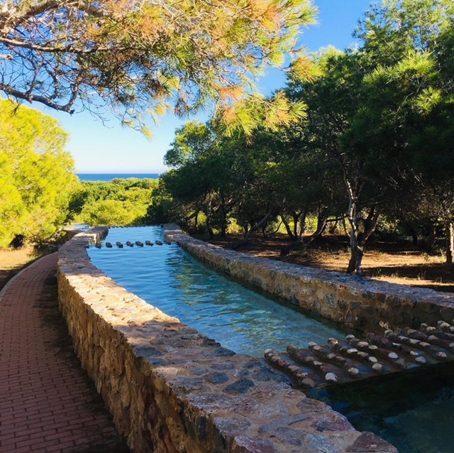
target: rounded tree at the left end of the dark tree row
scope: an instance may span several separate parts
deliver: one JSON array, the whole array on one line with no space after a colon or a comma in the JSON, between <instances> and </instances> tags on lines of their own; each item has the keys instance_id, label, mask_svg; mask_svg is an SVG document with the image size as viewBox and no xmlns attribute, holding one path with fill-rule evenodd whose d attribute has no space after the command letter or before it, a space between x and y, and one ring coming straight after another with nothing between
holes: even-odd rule
<instances>
[{"instance_id":1,"label":"rounded tree at the left end of the dark tree row","mask_svg":"<svg viewBox=\"0 0 454 453\"><path fill-rule=\"evenodd\" d=\"M165 155L165 163L175 170L162 179L182 212L189 208L184 216L187 227L194 219L197 228L203 212L210 236L214 234L213 222L225 236L228 214L242 187L238 143L237 138L223 136L209 123L189 122L177 130Z\"/></svg>"}]
</instances>

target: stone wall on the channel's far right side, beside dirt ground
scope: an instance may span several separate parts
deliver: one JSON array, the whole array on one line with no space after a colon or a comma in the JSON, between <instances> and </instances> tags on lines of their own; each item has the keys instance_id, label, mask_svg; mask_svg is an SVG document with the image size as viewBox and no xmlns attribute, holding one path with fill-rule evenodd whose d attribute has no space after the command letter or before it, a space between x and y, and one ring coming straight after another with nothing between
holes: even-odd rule
<instances>
[{"instance_id":1,"label":"stone wall on the channel's far right side, beside dirt ground","mask_svg":"<svg viewBox=\"0 0 454 453\"><path fill-rule=\"evenodd\" d=\"M381 333L419 328L421 322L436 325L438 320L454 320L453 293L258 258L193 239L174 224L166 225L165 234L218 271L362 332Z\"/></svg>"}]
</instances>

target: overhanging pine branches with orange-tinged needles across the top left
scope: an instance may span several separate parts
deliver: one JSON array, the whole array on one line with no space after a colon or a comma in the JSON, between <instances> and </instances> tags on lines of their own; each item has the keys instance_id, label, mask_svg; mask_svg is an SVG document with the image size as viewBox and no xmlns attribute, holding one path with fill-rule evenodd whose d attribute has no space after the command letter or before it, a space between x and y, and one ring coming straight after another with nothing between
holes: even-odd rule
<instances>
[{"instance_id":1,"label":"overhanging pine branches with orange-tinged needles across the top left","mask_svg":"<svg viewBox=\"0 0 454 453\"><path fill-rule=\"evenodd\" d=\"M255 77L294 55L314 12L308 0L7 0L0 89L67 112L79 99L138 126L144 112L183 115L212 102L247 128L238 102L263 104L251 96ZM304 76L305 59L293 70ZM270 124L288 117L281 96L270 106Z\"/></svg>"}]
</instances>

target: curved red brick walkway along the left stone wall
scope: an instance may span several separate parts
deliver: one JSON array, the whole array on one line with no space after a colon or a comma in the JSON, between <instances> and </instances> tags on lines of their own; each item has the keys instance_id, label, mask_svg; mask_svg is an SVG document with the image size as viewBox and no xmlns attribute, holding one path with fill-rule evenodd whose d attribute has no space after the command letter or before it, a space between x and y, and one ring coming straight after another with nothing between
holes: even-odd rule
<instances>
[{"instance_id":1,"label":"curved red brick walkway along the left stone wall","mask_svg":"<svg viewBox=\"0 0 454 453\"><path fill-rule=\"evenodd\" d=\"M57 253L0 293L0 453L125 453L58 312Z\"/></svg>"}]
</instances>

